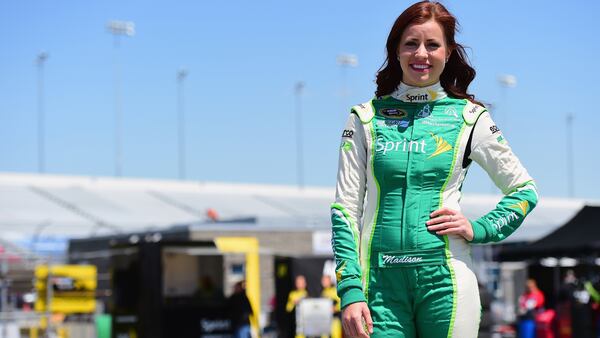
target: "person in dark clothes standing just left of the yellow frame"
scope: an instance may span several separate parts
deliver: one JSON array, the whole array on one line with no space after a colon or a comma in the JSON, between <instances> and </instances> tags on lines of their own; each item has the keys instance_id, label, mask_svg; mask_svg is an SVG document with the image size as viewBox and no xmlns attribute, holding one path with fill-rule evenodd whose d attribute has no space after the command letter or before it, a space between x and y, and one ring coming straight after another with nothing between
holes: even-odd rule
<instances>
[{"instance_id":1,"label":"person in dark clothes standing just left of the yellow frame","mask_svg":"<svg viewBox=\"0 0 600 338\"><path fill-rule=\"evenodd\" d=\"M231 327L235 338L250 338L250 316L253 314L252 305L246 295L246 281L235 283L233 294L227 300Z\"/></svg>"}]
</instances>

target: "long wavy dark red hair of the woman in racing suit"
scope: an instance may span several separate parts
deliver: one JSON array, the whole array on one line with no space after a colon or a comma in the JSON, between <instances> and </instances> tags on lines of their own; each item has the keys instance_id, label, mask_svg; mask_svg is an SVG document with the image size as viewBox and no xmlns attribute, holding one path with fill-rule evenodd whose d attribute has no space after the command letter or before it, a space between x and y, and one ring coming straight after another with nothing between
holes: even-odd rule
<instances>
[{"instance_id":1,"label":"long wavy dark red hair of the woman in racing suit","mask_svg":"<svg viewBox=\"0 0 600 338\"><path fill-rule=\"evenodd\" d=\"M431 19L442 26L446 44L451 51L444 71L440 75L440 84L451 97L468 99L481 104L475 100L475 95L467 93L469 84L475 78L475 69L469 64L464 47L454 40L458 26L456 18L442 4L431 1L417 2L408 7L394 22L386 43L387 57L377 71L375 96L391 94L402 81L402 67L398 61L398 45L406 27L412 24L422 24Z\"/></svg>"}]
</instances>

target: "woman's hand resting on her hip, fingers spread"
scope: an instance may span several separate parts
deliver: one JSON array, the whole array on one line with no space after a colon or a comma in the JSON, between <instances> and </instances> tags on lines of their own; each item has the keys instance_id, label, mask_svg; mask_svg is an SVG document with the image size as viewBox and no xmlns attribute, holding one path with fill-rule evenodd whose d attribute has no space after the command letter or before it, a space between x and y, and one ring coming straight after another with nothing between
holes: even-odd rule
<instances>
[{"instance_id":1,"label":"woman's hand resting on her hip, fingers spread","mask_svg":"<svg viewBox=\"0 0 600 338\"><path fill-rule=\"evenodd\" d=\"M473 226L460 211L442 208L432 212L427 221L427 230L438 235L459 235L467 241L473 240Z\"/></svg>"}]
</instances>

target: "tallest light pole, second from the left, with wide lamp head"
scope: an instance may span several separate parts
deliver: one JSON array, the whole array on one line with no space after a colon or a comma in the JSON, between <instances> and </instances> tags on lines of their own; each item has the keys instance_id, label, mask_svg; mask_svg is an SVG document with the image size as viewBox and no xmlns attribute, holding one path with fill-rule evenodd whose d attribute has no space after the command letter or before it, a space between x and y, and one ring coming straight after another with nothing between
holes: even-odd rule
<instances>
[{"instance_id":1,"label":"tallest light pole, second from the left, with wide lamp head","mask_svg":"<svg viewBox=\"0 0 600 338\"><path fill-rule=\"evenodd\" d=\"M106 29L113 35L113 46L114 46L114 87L115 87L115 176L121 176L122 173L122 146L121 146L121 123L123 118L123 112L121 107L121 93L120 93L120 68L117 57L117 51L119 49L119 37L120 36L134 36L135 35L135 24L130 21L118 21L111 20L106 24Z\"/></svg>"}]
</instances>

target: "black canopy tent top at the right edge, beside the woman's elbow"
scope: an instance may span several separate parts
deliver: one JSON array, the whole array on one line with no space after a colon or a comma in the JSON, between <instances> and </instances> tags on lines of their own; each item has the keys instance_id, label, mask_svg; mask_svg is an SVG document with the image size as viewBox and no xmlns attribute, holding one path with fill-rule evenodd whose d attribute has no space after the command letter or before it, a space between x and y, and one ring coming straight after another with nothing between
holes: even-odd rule
<instances>
[{"instance_id":1,"label":"black canopy tent top at the right edge, beside the woman's elbow","mask_svg":"<svg viewBox=\"0 0 600 338\"><path fill-rule=\"evenodd\" d=\"M600 206L584 206L569 222L536 242L504 247L498 260L526 261L544 257L600 256Z\"/></svg>"}]
</instances>

